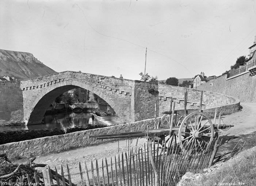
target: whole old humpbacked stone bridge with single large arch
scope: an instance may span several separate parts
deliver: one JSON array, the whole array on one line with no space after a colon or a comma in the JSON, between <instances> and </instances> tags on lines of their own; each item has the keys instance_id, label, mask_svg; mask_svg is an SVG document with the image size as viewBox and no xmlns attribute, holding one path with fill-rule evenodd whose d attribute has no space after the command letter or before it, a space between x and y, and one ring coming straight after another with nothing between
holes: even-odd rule
<instances>
[{"instance_id":1,"label":"whole old humpbacked stone bridge with single large arch","mask_svg":"<svg viewBox=\"0 0 256 186\"><path fill-rule=\"evenodd\" d=\"M126 80L81 72L60 72L20 82L23 97L23 121L39 124L51 102L74 88L84 88L103 98L123 123L154 118L169 110L171 97L177 109L183 109L185 88L138 80ZM188 90L188 109L199 106L200 91ZM237 104L237 100L223 94L205 92L205 109Z\"/></svg>"}]
</instances>

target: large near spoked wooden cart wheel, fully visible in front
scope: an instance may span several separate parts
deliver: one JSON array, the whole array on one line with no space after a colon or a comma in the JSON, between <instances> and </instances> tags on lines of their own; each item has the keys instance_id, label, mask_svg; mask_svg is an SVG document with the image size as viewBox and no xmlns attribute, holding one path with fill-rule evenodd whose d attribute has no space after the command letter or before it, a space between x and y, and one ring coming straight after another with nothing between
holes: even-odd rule
<instances>
[{"instance_id":1,"label":"large near spoked wooden cart wheel, fully visible in front","mask_svg":"<svg viewBox=\"0 0 256 186\"><path fill-rule=\"evenodd\" d=\"M185 147L196 149L208 148L214 137L214 127L210 118L202 112L193 112L184 118L179 129L179 143ZM190 145L188 145L190 143Z\"/></svg>"}]
</instances>

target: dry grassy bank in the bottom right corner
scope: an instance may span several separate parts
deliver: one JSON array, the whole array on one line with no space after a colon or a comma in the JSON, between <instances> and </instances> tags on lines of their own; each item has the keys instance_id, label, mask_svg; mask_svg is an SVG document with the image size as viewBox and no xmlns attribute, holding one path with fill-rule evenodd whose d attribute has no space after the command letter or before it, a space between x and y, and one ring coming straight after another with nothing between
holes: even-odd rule
<instances>
[{"instance_id":1,"label":"dry grassy bank in the bottom right corner","mask_svg":"<svg viewBox=\"0 0 256 186\"><path fill-rule=\"evenodd\" d=\"M194 181L191 186L211 185L256 185L256 152L246 154L241 159L228 161L216 173L203 175L202 181Z\"/></svg>"}]
</instances>

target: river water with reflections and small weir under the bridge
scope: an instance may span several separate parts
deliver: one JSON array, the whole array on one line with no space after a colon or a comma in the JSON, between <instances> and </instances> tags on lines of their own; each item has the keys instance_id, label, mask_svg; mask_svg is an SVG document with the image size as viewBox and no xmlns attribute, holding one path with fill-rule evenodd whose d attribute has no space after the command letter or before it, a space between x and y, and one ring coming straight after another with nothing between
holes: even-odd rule
<instances>
[{"instance_id":1,"label":"river water with reflections and small weir under the bridge","mask_svg":"<svg viewBox=\"0 0 256 186\"><path fill-rule=\"evenodd\" d=\"M108 126L121 124L118 116L95 116L95 124L106 124ZM8 130L36 130L36 129L66 129L74 126L87 126L92 124L91 113L59 113L45 115L45 124L22 125L22 126L0 126L0 131Z\"/></svg>"}]
</instances>

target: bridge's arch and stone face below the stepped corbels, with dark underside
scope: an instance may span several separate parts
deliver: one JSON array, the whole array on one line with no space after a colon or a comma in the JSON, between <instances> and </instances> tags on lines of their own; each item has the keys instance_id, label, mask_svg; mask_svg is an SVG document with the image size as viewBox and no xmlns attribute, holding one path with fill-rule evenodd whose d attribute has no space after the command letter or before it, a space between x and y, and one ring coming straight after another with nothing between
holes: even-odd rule
<instances>
[{"instance_id":1,"label":"bridge's arch and stone face below the stepped corbels, with dark underside","mask_svg":"<svg viewBox=\"0 0 256 186\"><path fill-rule=\"evenodd\" d=\"M107 91L106 88L104 87L102 90L101 87L95 86L93 84L88 84L85 81L65 80L65 81L60 81L56 84L49 85L47 86L47 88L40 88L41 89L40 91L35 91L36 95L28 94L30 97L30 101L28 100L25 101L23 105L25 124L31 125L31 124L41 123L43 116L46 112L46 109L56 99L56 97L74 88L87 89L90 92L97 94L114 109L115 113L120 117L120 120L122 122L130 122L129 114L131 112L129 111L131 108L131 101L130 101L131 96L129 94L123 95L126 97L126 99L123 99L122 97L120 97L120 95L118 95L119 97L118 98L115 96L115 94L119 94L118 92L113 93L109 89ZM125 100L127 100L127 102L125 102ZM124 103L126 105L125 110L127 110L128 112L124 112L124 109L120 109L120 106L123 105Z\"/></svg>"}]
</instances>

